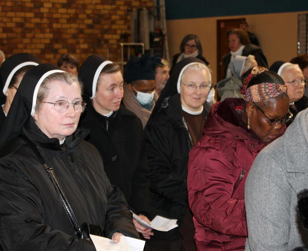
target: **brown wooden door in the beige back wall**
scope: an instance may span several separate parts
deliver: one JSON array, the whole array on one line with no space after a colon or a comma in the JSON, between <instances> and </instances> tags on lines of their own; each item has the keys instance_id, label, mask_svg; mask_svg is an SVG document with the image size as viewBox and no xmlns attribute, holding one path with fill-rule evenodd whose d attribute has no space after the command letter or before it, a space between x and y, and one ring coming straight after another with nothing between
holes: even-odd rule
<instances>
[{"instance_id":1,"label":"brown wooden door in the beige back wall","mask_svg":"<svg viewBox=\"0 0 308 251\"><path fill-rule=\"evenodd\" d=\"M246 21L246 18L217 20L217 82L224 76L222 57L230 52L227 31L239 28L242 21Z\"/></svg>"}]
</instances>

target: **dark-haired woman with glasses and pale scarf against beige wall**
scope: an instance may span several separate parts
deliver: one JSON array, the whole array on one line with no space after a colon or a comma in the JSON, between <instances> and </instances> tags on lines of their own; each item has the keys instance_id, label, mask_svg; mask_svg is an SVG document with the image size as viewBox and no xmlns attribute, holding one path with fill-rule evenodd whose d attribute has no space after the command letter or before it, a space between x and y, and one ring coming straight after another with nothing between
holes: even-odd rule
<instances>
[{"instance_id":1,"label":"dark-haired woman with glasses and pale scarf against beige wall","mask_svg":"<svg viewBox=\"0 0 308 251\"><path fill-rule=\"evenodd\" d=\"M209 65L209 62L202 56L202 46L198 36L195 34L188 34L183 38L180 44L180 53L173 56L172 69L175 64L180 62L182 59L192 57L201 59L206 65Z\"/></svg>"}]
</instances>

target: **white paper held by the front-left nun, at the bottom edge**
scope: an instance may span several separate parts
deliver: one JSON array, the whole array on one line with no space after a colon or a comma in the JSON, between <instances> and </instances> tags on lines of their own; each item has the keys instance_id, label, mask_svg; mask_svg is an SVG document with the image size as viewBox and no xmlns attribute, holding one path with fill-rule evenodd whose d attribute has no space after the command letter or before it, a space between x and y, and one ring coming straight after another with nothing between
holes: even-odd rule
<instances>
[{"instance_id":1,"label":"white paper held by the front-left nun, at the bottom edge","mask_svg":"<svg viewBox=\"0 0 308 251\"><path fill-rule=\"evenodd\" d=\"M112 240L90 234L91 240L96 251L143 251L145 241L134 239L127 236L121 236L119 243Z\"/></svg>"}]
</instances>

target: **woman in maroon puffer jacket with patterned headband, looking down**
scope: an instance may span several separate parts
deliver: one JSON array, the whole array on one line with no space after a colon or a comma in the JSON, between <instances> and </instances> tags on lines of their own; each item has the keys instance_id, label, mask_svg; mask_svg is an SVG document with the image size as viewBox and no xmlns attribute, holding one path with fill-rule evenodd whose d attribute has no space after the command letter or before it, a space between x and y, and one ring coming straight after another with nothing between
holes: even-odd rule
<instances>
[{"instance_id":1,"label":"woman in maroon puffer jacket with patterned headband, looking down","mask_svg":"<svg viewBox=\"0 0 308 251\"><path fill-rule=\"evenodd\" d=\"M257 154L281 136L292 114L286 84L254 67L245 98L213 105L188 163L188 200L197 250L244 250L247 237L244 186Z\"/></svg>"}]
</instances>

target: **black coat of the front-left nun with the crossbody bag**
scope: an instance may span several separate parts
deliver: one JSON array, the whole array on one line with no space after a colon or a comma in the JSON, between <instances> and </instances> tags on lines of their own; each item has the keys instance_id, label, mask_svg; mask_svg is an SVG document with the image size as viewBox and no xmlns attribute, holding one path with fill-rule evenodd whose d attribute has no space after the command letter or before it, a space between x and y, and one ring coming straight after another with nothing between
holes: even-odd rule
<instances>
[{"instance_id":1,"label":"black coat of the front-left nun with the crossbody bag","mask_svg":"<svg viewBox=\"0 0 308 251\"><path fill-rule=\"evenodd\" d=\"M83 141L87 130L65 140L49 139L30 118L23 129L54 168L79 225L100 224L106 237L115 232L138 234L123 194L111 186L97 150ZM3 250L95 251L91 241L77 239L58 193L34 152L22 138L12 140L0 159L0 243Z\"/></svg>"}]
</instances>

